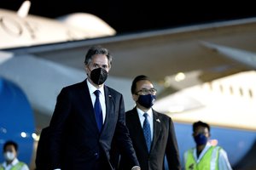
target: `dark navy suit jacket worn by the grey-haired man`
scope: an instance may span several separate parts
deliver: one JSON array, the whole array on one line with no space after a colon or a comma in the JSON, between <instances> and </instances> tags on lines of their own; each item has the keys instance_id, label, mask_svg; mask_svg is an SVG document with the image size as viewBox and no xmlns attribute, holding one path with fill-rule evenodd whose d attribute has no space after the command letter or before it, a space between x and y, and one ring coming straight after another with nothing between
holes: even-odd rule
<instances>
[{"instance_id":1,"label":"dark navy suit jacket worn by the grey-haired man","mask_svg":"<svg viewBox=\"0 0 256 170\"><path fill-rule=\"evenodd\" d=\"M113 169L109 150L115 138L139 165L127 127L122 94L104 86L106 119L98 132L86 81L62 88L49 127L50 157L54 167L63 169ZM100 165L100 167L96 167Z\"/></svg>"}]
</instances>

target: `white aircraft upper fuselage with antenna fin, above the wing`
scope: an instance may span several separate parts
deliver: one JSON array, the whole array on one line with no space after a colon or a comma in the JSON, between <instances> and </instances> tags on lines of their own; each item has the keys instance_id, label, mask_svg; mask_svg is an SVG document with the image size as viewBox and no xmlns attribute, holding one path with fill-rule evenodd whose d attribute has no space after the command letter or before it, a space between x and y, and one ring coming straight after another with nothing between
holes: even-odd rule
<instances>
[{"instance_id":1,"label":"white aircraft upper fuselage with antenna fin, above the wing","mask_svg":"<svg viewBox=\"0 0 256 170\"><path fill-rule=\"evenodd\" d=\"M58 20L27 14L30 2L19 11L0 9L0 49L113 36L116 31L93 14L67 14Z\"/></svg>"}]
</instances>

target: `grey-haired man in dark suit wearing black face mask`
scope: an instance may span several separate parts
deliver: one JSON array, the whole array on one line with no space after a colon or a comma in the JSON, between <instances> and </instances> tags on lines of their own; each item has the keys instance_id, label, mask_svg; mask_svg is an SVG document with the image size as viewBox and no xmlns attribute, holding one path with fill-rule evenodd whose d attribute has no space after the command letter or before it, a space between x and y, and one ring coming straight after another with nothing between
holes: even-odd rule
<instances>
[{"instance_id":1,"label":"grey-haired man in dark suit wearing black face mask","mask_svg":"<svg viewBox=\"0 0 256 170\"><path fill-rule=\"evenodd\" d=\"M61 89L49 123L50 158L54 169L108 170L113 138L139 170L125 126L122 94L104 85L112 56L107 48L92 47L85 56L87 79Z\"/></svg>"}]
</instances>

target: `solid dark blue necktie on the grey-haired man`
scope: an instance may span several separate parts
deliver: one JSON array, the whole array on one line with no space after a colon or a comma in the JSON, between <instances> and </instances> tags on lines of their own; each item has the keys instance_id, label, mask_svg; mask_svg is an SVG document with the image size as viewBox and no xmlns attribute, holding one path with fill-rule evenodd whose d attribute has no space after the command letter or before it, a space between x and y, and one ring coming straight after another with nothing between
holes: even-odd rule
<instances>
[{"instance_id":1,"label":"solid dark blue necktie on the grey-haired man","mask_svg":"<svg viewBox=\"0 0 256 170\"><path fill-rule=\"evenodd\" d=\"M95 116L96 116L96 122L97 122L97 127L99 129L99 131L102 130L102 122L103 122L103 117L102 117L102 106L100 103L100 91L96 90L94 92L94 94L96 95L96 100L95 100L95 104L94 104L94 111L95 111Z\"/></svg>"}]
</instances>

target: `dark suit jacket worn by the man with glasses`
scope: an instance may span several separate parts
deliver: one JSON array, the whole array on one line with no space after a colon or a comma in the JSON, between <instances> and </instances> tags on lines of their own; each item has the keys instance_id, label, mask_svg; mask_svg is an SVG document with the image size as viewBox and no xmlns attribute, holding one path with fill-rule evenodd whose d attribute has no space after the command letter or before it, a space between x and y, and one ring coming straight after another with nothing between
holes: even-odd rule
<instances>
[{"instance_id":1,"label":"dark suit jacket worn by the man with glasses","mask_svg":"<svg viewBox=\"0 0 256 170\"><path fill-rule=\"evenodd\" d=\"M169 169L181 169L177 139L174 132L173 122L169 116L153 110L154 136L151 150L148 154L146 141L143 135L137 109L127 111L126 126L129 128L131 140L136 150L137 159L142 170L161 170L164 168L164 156L168 161ZM122 150L120 151L122 153ZM119 169L128 169L128 161L125 154L121 154Z\"/></svg>"}]
</instances>

